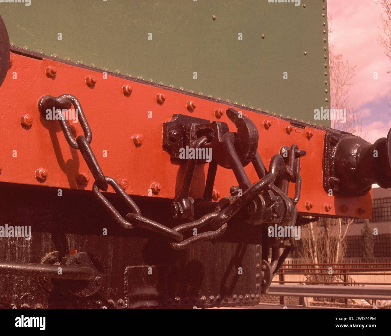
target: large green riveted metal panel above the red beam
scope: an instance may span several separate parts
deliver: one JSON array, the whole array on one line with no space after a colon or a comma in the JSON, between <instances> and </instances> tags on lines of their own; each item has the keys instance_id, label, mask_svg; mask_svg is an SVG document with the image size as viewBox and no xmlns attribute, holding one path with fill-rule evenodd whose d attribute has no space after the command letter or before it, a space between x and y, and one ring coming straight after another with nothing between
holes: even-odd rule
<instances>
[{"instance_id":1,"label":"large green riveted metal panel above the red beam","mask_svg":"<svg viewBox=\"0 0 391 336\"><path fill-rule=\"evenodd\" d=\"M330 101L323 6L324 0L31 0L2 3L0 14L14 45L330 126L314 120L314 109Z\"/></svg>"}]
</instances>

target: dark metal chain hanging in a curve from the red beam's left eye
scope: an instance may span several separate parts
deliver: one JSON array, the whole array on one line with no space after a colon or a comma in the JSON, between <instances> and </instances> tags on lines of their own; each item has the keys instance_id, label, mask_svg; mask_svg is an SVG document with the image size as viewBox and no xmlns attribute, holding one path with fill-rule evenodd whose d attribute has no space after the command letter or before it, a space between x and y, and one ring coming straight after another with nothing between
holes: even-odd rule
<instances>
[{"instance_id":1,"label":"dark metal chain hanging in a curve from the red beam's left eye","mask_svg":"<svg viewBox=\"0 0 391 336\"><path fill-rule=\"evenodd\" d=\"M198 220L178 225L172 229L163 224L154 222L153 220L143 217L140 208L136 205L132 198L127 195L126 191L120 186L120 184L118 184L118 182L115 181L115 179L113 179L112 177L105 176L102 172L102 169L100 168L99 163L90 146L90 143L92 141L92 132L90 126L88 125L79 100L77 100L74 95L70 94L61 95L60 97L43 96L39 100L39 107L41 111L46 111L47 108L59 106L69 106L69 109L71 107L69 103L74 105L74 107L78 110L78 117L81 123L81 127L83 128L84 136L80 135L75 139L72 135L72 132L70 131L70 128L65 118L59 118L59 123L61 129L63 130L65 139L72 148L80 150L84 161L86 161L87 166L95 179L95 182L93 183L92 187L93 194L99 200L100 204L104 206L106 211L108 211L108 213L115 220L115 222L118 223L122 228L133 229L136 226L140 226L144 229L158 232L163 236L166 236L173 240L174 242L170 241L170 245L172 248L177 250L186 248L196 243L197 241L217 238L225 232L229 218L227 218L225 223L215 231L203 232L185 240L183 239L183 235L181 232L185 232L206 225L213 218L215 218L218 213L206 214ZM117 209L115 209L115 207L100 192L100 190L107 191L109 185L131 209L131 212L125 216L126 219L121 216Z\"/></svg>"}]
</instances>

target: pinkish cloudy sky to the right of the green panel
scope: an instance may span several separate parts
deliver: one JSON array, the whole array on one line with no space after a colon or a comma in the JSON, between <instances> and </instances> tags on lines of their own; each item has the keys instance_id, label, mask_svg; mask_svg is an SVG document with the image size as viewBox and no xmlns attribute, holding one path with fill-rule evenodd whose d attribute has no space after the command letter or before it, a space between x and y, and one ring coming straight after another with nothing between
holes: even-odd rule
<instances>
[{"instance_id":1,"label":"pinkish cloudy sky to the right of the green panel","mask_svg":"<svg viewBox=\"0 0 391 336\"><path fill-rule=\"evenodd\" d=\"M376 0L327 0L327 9L333 18L330 43L335 53L356 66L348 107L358 109L363 118L362 137L373 143L387 136L391 127L391 73L387 73L391 62L377 42L382 7Z\"/></svg>"}]
</instances>

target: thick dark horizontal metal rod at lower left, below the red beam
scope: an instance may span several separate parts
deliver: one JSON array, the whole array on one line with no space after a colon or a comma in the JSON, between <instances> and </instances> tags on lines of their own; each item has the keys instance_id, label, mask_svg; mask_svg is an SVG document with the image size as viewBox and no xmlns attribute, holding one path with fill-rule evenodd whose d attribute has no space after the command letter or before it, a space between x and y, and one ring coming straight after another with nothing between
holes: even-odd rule
<instances>
[{"instance_id":1,"label":"thick dark horizontal metal rod at lower left, below the red beam","mask_svg":"<svg viewBox=\"0 0 391 336\"><path fill-rule=\"evenodd\" d=\"M59 268L61 268L61 274L59 274ZM15 261L0 261L0 274L86 281L94 277L94 271L89 267L17 263Z\"/></svg>"}]
</instances>

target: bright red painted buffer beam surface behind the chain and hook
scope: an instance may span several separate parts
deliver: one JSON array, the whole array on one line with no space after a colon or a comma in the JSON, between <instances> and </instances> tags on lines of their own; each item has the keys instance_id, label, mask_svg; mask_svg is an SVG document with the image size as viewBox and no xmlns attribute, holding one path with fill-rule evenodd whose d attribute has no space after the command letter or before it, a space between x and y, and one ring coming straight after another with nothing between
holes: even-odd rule
<instances>
[{"instance_id":1,"label":"bright red painted buffer beam surface behind the chain and hook","mask_svg":"<svg viewBox=\"0 0 391 336\"><path fill-rule=\"evenodd\" d=\"M158 182L161 184L158 197L162 198L174 198L178 195L185 169L184 165L173 164L169 154L162 149L163 122L169 121L175 113L190 114L213 121L217 120L214 112L216 108L225 111L231 107L201 96L190 97L185 92L157 88L112 75L103 79L99 72L50 59L38 60L14 53L11 53L11 58L12 67L0 88L0 181L4 182L91 189L93 177L79 151L68 145L58 121L46 120L40 115L37 102L43 95L75 95L90 124L93 133L91 148L104 174L117 181L126 179L129 182L126 192L131 195L148 196L151 184ZM47 77L48 66L56 66L55 77ZM14 72L17 79L12 78ZM85 82L85 78L91 75L97 78L97 83L92 88ZM123 93L124 84L131 84L133 87L129 97ZM166 99L160 105L156 102L156 95L161 93ZM186 107L188 100L196 104L191 113ZM240 111L239 106L236 109ZM152 118L148 118L149 111L152 111ZM270 158L279 153L284 145L290 147L295 143L300 149L307 151L307 155L301 159L302 187L297 205L299 212L371 217L371 193L364 197L329 197L324 191L322 160L325 131L312 127L301 129L292 125L292 132L287 134L285 127L289 122L286 120L248 110L243 110L243 113L258 127L258 151L265 166L269 165ZM24 114L31 114L34 117L34 122L29 128L21 125L20 118ZM264 120L272 122L267 130L263 125ZM226 122L231 131L236 131L226 114L220 121ZM74 125L78 129L77 134L82 134L80 125ZM306 136L307 130L313 133L310 139ZM133 141L135 134L143 134L144 141L140 147L136 147ZM13 157L13 150L17 151L17 157ZM107 158L103 157L104 150L107 150ZM37 181L35 176L35 170L41 167L49 172L44 182ZM208 164L198 165L191 196L202 196L207 169ZM251 164L246 167L246 172L252 182L257 181ZM90 182L85 188L76 182L81 173L86 173L90 177ZM236 184L231 170L220 166L217 168L214 189L218 189L222 197L229 195L230 187ZM109 191L113 192L113 189L109 187ZM290 184L289 196L293 197L293 191L294 184ZM306 201L313 204L310 211L305 208ZM325 204L332 205L330 211L325 211ZM343 206L347 206L349 210L343 213ZM366 209L364 215L359 215L360 207Z\"/></svg>"}]
</instances>

